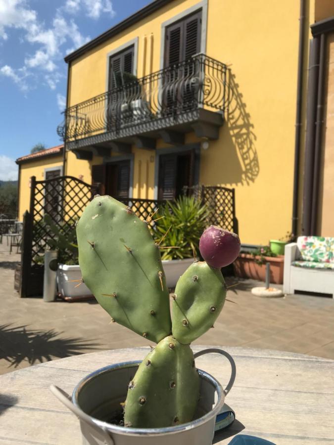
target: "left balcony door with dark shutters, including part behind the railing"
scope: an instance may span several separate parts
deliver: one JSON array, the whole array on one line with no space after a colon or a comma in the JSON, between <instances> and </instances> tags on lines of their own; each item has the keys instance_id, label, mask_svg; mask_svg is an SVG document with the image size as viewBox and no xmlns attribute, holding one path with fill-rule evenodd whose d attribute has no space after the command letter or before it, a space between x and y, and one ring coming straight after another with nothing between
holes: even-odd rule
<instances>
[{"instance_id":1,"label":"left balcony door with dark shutters, including part behind the railing","mask_svg":"<svg viewBox=\"0 0 334 445\"><path fill-rule=\"evenodd\" d=\"M120 125L122 105L126 102L126 85L133 82L134 46L109 58L107 130L117 130ZM131 75L131 77L129 76ZM124 108L124 107L123 107ZM122 116L123 117L123 116ZM124 116L126 117L126 116Z\"/></svg>"}]
</instances>

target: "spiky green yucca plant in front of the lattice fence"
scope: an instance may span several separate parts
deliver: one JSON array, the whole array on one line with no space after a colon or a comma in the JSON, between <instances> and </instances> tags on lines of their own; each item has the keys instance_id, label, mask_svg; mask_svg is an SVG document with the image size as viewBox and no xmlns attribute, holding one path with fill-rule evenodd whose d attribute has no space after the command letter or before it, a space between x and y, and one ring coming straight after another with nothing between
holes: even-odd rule
<instances>
[{"instance_id":1,"label":"spiky green yucca plant in front of the lattice fence","mask_svg":"<svg viewBox=\"0 0 334 445\"><path fill-rule=\"evenodd\" d=\"M162 248L161 259L182 260L194 254L198 256L198 240L207 217L207 209L192 196L181 196L160 207L154 216L152 235Z\"/></svg>"}]
</instances>

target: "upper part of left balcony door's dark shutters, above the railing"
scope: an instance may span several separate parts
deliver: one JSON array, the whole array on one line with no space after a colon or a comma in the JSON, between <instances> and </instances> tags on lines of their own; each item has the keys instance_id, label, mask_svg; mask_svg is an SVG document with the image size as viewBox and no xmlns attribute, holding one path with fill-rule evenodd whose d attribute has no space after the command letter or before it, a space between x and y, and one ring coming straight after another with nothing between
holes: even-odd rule
<instances>
[{"instance_id":1,"label":"upper part of left balcony door's dark shutters, above the railing","mask_svg":"<svg viewBox=\"0 0 334 445\"><path fill-rule=\"evenodd\" d=\"M134 73L134 52L135 47L131 45L109 58L109 90L129 82L127 74Z\"/></svg>"}]
</instances>

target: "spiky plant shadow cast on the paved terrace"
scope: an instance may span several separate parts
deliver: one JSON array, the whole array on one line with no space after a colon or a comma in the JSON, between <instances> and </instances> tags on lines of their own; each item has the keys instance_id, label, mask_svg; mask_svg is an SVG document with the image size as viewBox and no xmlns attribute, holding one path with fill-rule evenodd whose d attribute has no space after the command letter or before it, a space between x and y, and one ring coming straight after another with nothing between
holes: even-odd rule
<instances>
[{"instance_id":1,"label":"spiky plant shadow cast on the paved terrace","mask_svg":"<svg viewBox=\"0 0 334 445\"><path fill-rule=\"evenodd\" d=\"M87 350L100 349L98 344L82 338L60 337L63 332L54 329L46 331L31 329L26 325L0 325L0 359L9 363L9 367L17 368L27 360L30 365L84 354Z\"/></svg>"}]
</instances>

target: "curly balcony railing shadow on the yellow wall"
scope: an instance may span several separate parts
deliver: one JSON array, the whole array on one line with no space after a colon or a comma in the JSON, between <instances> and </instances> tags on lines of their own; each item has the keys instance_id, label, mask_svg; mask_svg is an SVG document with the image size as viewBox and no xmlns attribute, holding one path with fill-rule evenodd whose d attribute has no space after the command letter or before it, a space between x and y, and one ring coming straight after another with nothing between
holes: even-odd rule
<instances>
[{"instance_id":1,"label":"curly balcony railing shadow on the yellow wall","mask_svg":"<svg viewBox=\"0 0 334 445\"><path fill-rule=\"evenodd\" d=\"M232 72L229 75L229 88L232 94L228 105L227 124L241 161L241 182L248 185L255 181L260 170L255 147L256 134L246 104L242 100L236 76Z\"/></svg>"}]
</instances>

